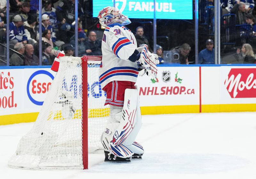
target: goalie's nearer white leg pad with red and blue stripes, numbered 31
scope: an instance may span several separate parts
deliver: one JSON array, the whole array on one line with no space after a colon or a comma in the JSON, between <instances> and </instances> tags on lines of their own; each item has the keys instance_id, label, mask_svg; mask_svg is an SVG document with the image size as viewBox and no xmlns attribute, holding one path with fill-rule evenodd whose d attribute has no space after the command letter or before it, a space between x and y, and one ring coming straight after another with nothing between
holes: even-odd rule
<instances>
[{"instance_id":1,"label":"goalie's nearer white leg pad with red and blue stripes, numbered 31","mask_svg":"<svg viewBox=\"0 0 256 179\"><path fill-rule=\"evenodd\" d=\"M123 143L132 133L137 121L137 94L137 89L125 89L124 107L121 112L120 123L117 123L118 120L113 119L120 116L118 110L116 113L112 112L110 116L112 119L109 121L111 123L107 125L102 136L102 144L103 146L105 145L105 150L121 158L127 158L133 155L133 152ZM138 132L136 132L136 136L137 133Z\"/></svg>"}]
</instances>

